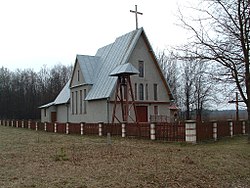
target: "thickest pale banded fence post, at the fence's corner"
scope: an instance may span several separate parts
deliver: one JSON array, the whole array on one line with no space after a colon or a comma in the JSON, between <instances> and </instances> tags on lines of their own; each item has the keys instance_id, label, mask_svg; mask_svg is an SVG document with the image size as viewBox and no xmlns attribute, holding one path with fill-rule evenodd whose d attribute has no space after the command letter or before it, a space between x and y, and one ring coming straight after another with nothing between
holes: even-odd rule
<instances>
[{"instance_id":1,"label":"thickest pale banded fence post, at the fence's corner","mask_svg":"<svg viewBox=\"0 0 250 188\"><path fill-rule=\"evenodd\" d=\"M187 120L185 122L185 141L195 144L197 141L196 121Z\"/></svg>"}]
</instances>

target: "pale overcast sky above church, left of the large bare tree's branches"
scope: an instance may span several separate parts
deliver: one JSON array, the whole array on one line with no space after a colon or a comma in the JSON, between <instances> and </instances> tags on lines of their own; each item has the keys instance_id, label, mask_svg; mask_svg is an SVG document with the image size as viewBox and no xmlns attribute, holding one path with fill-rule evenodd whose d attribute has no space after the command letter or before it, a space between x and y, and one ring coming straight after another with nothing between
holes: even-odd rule
<instances>
[{"instance_id":1,"label":"pale overcast sky above church, left of the large bare tree's branches","mask_svg":"<svg viewBox=\"0 0 250 188\"><path fill-rule=\"evenodd\" d=\"M0 67L10 70L62 63L76 54L94 55L98 48L139 27L154 50L186 40L176 25L180 0L0 0ZM187 1L182 1L187 2Z\"/></svg>"}]
</instances>

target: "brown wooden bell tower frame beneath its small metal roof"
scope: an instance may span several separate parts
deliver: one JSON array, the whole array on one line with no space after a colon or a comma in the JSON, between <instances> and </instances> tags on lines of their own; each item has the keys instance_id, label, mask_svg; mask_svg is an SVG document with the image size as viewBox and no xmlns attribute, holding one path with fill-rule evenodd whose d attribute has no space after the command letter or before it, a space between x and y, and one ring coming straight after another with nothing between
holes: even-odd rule
<instances>
[{"instance_id":1,"label":"brown wooden bell tower frame beneath its small metal roof","mask_svg":"<svg viewBox=\"0 0 250 188\"><path fill-rule=\"evenodd\" d=\"M115 90L115 103L113 107L112 123L117 120L119 123L128 122L129 118L138 123L137 111L135 106L135 100L133 95L133 89L131 85L129 73L121 73L118 76L116 90ZM117 107L120 104L121 107L121 119L117 114ZM132 117L132 110L134 111L135 119Z\"/></svg>"}]
</instances>

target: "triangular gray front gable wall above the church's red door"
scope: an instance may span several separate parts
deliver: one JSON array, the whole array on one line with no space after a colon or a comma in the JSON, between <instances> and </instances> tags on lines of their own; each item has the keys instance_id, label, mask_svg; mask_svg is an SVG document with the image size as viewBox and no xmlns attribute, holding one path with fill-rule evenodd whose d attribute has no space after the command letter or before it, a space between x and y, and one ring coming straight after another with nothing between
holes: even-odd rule
<instances>
[{"instance_id":1,"label":"triangular gray front gable wall above the church's red door","mask_svg":"<svg viewBox=\"0 0 250 188\"><path fill-rule=\"evenodd\" d=\"M169 102L173 99L167 81L144 32L138 39L129 62L140 72L139 75L132 77L132 81L134 87L138 87L135 88L137 91L139 87L143 87L144 100Z\"/></svg>"}]
</instances>

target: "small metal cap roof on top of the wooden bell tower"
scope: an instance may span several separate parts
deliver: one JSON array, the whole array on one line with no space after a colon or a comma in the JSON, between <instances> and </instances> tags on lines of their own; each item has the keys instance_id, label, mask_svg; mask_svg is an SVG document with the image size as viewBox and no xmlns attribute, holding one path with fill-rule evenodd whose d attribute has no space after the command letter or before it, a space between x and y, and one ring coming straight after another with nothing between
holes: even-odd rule
<instances>
[{"instance_id":1,"label":"small metal cap roof on top of the wooden bell tower","mask_svg":"<svg viewBox=\"0 0 250 188\"><path fill-rule=\"evenodd\" d=\"M109 75L118 76L121 74L134 75L139 74L139 71L131 63L126 63L124 65L119 65L118 67L116 67Z\"/></svg>"}]
</instances>

